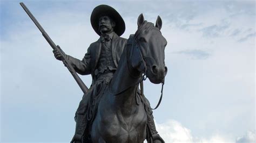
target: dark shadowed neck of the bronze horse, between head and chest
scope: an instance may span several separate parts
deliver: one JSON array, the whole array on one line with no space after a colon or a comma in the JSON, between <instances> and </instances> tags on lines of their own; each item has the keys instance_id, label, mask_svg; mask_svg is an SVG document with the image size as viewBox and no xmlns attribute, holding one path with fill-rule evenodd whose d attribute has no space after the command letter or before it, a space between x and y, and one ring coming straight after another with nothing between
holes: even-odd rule
<instances>
[{"instance_id":1,"label":"dark shadowed neck of the bronze horse, between head and chest","mask_svg":"<svg viewBox=\"0 0 256 143\"><path fill-rule=\"evenodd\" d=\"M110 91L111 94L114 94L114 102L120 104L118 106L127 108L131 108L131 104L136 104L134 94L138 88L138 83L141 80L140 76L134 77L134 75L132 75L132 73L136 72L136 69L129 68L131 65L127 60L129 60L130 57L130 48L131 47L126 44L118 63L118 68L110 83Z\"/></svg>"}]
</instances>

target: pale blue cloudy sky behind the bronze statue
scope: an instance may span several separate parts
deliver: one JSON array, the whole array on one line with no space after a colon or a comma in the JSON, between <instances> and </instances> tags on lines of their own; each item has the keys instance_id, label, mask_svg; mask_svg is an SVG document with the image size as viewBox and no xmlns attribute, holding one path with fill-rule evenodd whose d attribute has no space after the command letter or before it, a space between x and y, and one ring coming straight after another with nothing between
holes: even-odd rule
<instances>
[{"instance_id":1,"label":"pale blue cloudy sky behind the bronze statue","mask_svg":"<svg viewBox=\"0 0 256 143\"><path fill-rule=\"evenodd\" d=\"M19 5L0 0L0 142L69 142L83 92ZM255 142L255 1L22 1L55 44L82 59L99 37L97 5L123 17L129 38L137 18L155 23L168 44L163 100L153 111L171 142ZM80 76L86 85L91 76ZM160 84L147 80L151 106Z\"/></svg>"}]
</instances>

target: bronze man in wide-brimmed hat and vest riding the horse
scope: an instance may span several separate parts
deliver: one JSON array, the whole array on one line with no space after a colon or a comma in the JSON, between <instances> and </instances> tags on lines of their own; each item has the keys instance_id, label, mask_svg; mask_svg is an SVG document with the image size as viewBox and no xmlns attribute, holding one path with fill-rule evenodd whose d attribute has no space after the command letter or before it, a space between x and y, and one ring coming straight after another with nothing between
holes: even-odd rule
<instances>
[{"instance_id":1,"label":"bronze man in wide-brimmed hat and vest riding the horse","mask_svg":"<svg viewBox=\"0 0 256 143\"><path fill-rule=\"evenodd\" d=\"M91 14L91 25L100 38L93 42L87 49L82 60L66 56L77 73L81 75L91 74L92 84L89 91L83 96L76 111L76 131L71 142L90 142L90 126L102 91L111 80L117 69L120 56L127 39L119 37L125 31L125 23L119 13L108 5L99 5ZM62 59L62 54L53 51L57 60ZM146 100L147 101L147 100ZM146 103L149 104L149 103ZM152 111L146 108L150 115L147 120L147 139L153 142L164 142L157 134L154 125ZM152 142L152 141L151 141Z\"/></svg>"}]
</instances>

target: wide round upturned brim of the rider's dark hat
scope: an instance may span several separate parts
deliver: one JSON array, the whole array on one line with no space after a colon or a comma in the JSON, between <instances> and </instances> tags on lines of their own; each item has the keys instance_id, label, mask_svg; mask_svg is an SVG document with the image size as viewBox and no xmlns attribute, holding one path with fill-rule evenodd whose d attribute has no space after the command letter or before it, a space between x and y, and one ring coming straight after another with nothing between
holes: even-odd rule
<instances>
[{"instance_id":1,"label":"wide round upturned brim of the rider's dark hat","mask_svg":"<svg viewBox=\"0 0 256 143\"><path fill-rule=\"evenodd\" d=\"M109 5L98 5L95 9L93 9L91 14L91 25L93 30L100 35L99 32L99 18L102 16L109 16L116 22L116 26L114 27L114 32L117 33L118 36L122 35L125 31L125 23L123 18L119 15L119 13L113 9Z\"/></svg>"}]
</instances>

